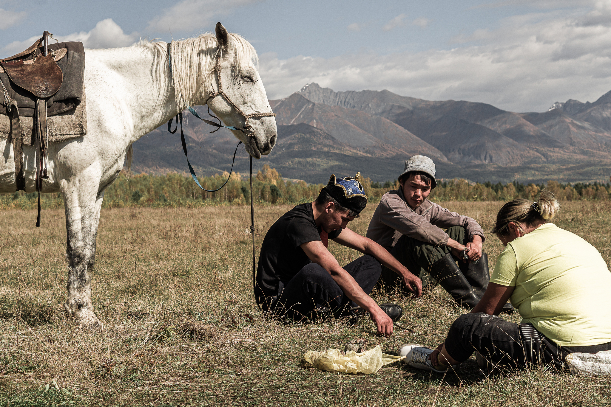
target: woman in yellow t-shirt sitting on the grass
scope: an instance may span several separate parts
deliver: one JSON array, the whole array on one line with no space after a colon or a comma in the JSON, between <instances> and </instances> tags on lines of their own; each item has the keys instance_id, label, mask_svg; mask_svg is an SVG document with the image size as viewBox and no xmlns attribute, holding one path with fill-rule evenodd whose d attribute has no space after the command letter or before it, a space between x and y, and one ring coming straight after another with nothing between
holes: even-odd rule
<instances>
[{"instance_id":1,"label":"woman in yellow t-shirt sitting on the grass","mask_svg":"<svg viewBox=\"0 0 611 407\"><path fill-rule=\"evenodd\" d=\"M477 351L480 364L485 358L562 369L569 353L611 350L611 273L590 243L547 223L558 209L548 190L536 202L503 205L492 232L505 250L488 289L470 314L456 319L436 350L404 345L400 353L410 366L444 372ZM508 299L521 323L498 317Z\"/></svg>"}]
</instances>

